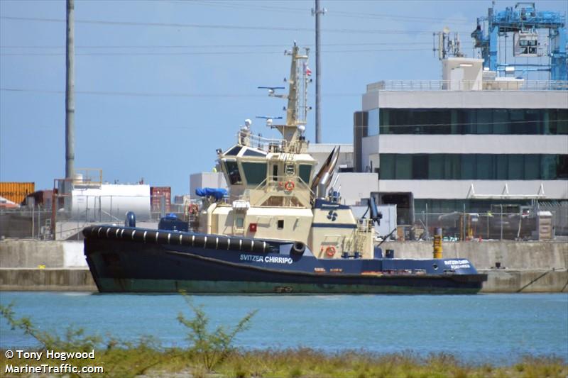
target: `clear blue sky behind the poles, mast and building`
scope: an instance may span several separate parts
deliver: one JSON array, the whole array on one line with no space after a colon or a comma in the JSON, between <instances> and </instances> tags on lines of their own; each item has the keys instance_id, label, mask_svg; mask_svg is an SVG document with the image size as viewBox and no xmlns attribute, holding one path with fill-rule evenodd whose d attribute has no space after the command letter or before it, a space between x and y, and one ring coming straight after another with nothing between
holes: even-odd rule
<instances>
[{"instance_id":1,"label":"clear blue sky behind the poles, mast and building","mask_svg":"<svg viewBox=\"0 0 568 378\"><path fill-rule=\"evenodd\" d=\"M469 34L491 1L321 0L322 141L352 143L366 84L441 79L432 33ZM537 1L568 12L567 1ZM515 1L496 1L496 9ZM106 182L189 193L246 118L285 116L283 86L294 41L309 47L315 78L313 0L75 0L75 167ZM65 0L0 0L0 181L50 189L65 177ZM530 79L530 77L529 77ZM315 84L309 103L315 106ZM315 141L315 112L307 138Z\"/></svg>"}]
</instances>

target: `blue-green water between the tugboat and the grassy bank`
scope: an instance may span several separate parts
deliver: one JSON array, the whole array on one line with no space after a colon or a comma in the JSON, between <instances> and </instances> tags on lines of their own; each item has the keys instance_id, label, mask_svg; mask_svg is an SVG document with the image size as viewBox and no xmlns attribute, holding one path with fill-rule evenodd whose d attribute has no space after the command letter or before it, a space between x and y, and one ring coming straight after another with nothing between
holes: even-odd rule
<instances>
[{"instance_id":1,"label":"blue-green water between the tugboat and the grassy bank","mask_svg":"<svg viewBox=\"0 0 568 378\"><path fill-rule=\"evenodd\" d=\"M556 355L568 361L567 294L469 296L193 296L213 326L233 326L253 309L251 328L236 345L335 352L364 349L420 355L450 352L467 362L510 364L523 355ZM153 335L163 345L184 346L175 317L190 308L179 295L0 292L17 317L38 327L137 340ZM33 339L0 320L0 348L26 347Z\"/></svg>"}]
</instances>

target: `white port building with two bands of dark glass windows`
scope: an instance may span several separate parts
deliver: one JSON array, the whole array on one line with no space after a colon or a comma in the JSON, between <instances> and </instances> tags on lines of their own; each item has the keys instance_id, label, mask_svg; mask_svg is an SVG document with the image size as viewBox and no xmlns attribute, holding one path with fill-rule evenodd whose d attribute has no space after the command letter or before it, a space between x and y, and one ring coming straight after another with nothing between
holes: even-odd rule
<instances>
[{"instance_id":1,"label":"white port building with two bands of dark glass windows","mask_svg":"<svg viewBox=\"0 0 568 378\"><path fill-rule=\"evenodd\" d=\"M398 217L568 199L568 82L497 77L449 57L442 80L368 84L354 170L376 173Z\"/></svg>"}]
</instances>

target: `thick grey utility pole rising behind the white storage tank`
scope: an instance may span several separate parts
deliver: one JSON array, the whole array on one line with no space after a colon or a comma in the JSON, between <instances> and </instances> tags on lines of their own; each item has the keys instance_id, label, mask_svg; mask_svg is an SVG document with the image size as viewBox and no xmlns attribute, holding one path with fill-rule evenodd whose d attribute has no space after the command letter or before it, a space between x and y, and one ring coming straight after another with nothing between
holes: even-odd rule
<instances>
[{"instance_id":1,"label":"thick grey utility pole rising behind the white storage tank","mask_svg":"<svg viewBox=\"0 0 568 378\"><path fill-rule=\"evenodd\" d=\"M65 178L75 174L75 0L67 0L67 48L65 50ZM67 187L69 185L69 187ZM65 192L71 190L65 184Z\"/></svg>"}]
</instances>

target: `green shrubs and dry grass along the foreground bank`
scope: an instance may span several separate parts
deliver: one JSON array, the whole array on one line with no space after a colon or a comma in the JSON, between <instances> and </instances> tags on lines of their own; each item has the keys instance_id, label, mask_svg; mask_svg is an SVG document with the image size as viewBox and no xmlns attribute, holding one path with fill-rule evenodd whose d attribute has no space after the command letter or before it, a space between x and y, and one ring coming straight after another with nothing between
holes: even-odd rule
<instances>
[{"instance_id":1,"label":"green shrubs and dry grass along the foreground bank","mask_svg":"<svg viewBox=\"0 0 568 378\"><path fill-rule=\"evenodd\" d=\"M469 365L453 355L437 354L420 357L413 352L379 355L364 350L337 353L307 348L288 350L239 350L234 338L249 327L256 311L247 314L234 328L219 326L210 330L209 318L201 306L184 296L193 312L192 318L182 313L178 321L187 327L189 348L162 348L155 339L143 337L137 343L114 338L85 335L82 329L67 328L60 336L36 328L29 318L16 318L13 306L0 305L0 316L12 328L23 330L43 345L40 350L96 350L94 360L71 359L70 365L102 366L103 374L62 374L70 377L393 377L393 378L545 378L568 377L568 364L558 357L524 357L511 366ZM8 359L0 354L0 377L6 365L56 365L53 360ZM14 377L26 377L15 374ZM28 377L35 377L28 374ZM54 374L53 376L57 376Z\"/></svg>"}]
</instances>

